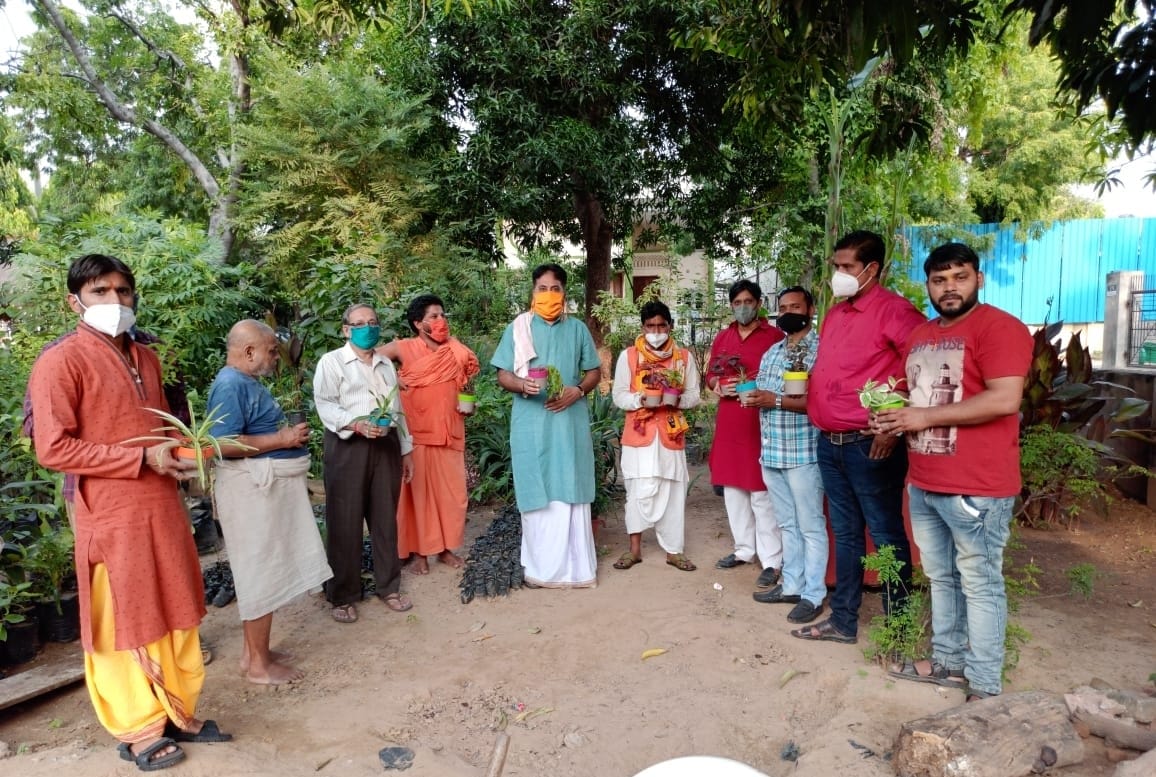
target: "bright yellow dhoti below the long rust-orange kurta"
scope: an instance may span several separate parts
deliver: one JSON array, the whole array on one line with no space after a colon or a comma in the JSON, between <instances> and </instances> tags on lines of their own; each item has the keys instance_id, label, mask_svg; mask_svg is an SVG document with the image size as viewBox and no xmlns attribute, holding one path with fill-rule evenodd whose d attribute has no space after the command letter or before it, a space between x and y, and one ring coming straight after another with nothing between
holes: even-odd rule
<instances>
[{"instance_id":1,"label":"bright yellow dhoti below the long rust-orange kurta","mask_svg":"<svg viewBox=\"0 0 1156 777\"><path fill-rule=\"evenodd\" d=\"M84 681L92 708L110 734L123 742L144 742L164 734L172 720L192 726L205 682L197 629L170 631L133 650L116 650L116 620L109 571L92 567L92 652L84 653Z\"/></svg>"}]
</instances>

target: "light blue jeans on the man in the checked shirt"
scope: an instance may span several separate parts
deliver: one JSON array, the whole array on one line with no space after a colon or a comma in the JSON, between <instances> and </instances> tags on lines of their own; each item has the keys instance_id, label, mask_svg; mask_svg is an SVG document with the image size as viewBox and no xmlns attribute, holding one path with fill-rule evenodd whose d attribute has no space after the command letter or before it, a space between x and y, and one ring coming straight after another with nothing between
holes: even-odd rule
<instances>
[{"instance_id":1,"label":"light blue jeans on the man in the checked shirt","mask_svg":"<svg viewBox=\"0 0 1156 777\"><path fill-rule=\"evenodd\" d=\"M827 597L827 518L817 464L763 467L775 519L783 530L783 593L816 607Z\"/></svg>"}]
</instances>

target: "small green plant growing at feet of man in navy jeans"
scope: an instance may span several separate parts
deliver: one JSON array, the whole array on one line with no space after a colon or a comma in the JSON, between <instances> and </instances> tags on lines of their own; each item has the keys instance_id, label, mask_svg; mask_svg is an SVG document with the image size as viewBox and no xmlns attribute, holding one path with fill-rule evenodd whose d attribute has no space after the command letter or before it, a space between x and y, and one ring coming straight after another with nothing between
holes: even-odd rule
<instances>
[{"instance_id":1,"label":"small green plant growing at feet of man in navy jeans","mask_svg":"<svg viewBox=\"0 0 1156 777\"><path fill-rule=\"evenodd\" d=\"M890 590L904 590L904 562L895 557L895 546L884 545L862 560L864 569L879 575L879 580ZM864 656L881 663L914 660L927 652L931 602L926 591L906 591L902 607L887 615L876 615L867 629Z\"/></svg>"}]
</instances>

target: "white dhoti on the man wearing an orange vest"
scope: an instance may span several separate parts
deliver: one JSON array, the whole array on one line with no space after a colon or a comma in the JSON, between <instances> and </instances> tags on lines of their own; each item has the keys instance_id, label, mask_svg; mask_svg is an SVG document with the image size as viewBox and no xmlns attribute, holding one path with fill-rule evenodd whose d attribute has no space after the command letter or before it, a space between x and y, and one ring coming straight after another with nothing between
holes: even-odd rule
<instances>
[{"instance_id":1,"label":"white dhoti on the man wearing an orange vest","mask_svg":"<svg viewBox=\"0 0 1156 777\"><path fill-rule=\"evenodd\" d=\"M659 441L645 447L623 446L622 478L627 486L627 533L654 527L658 543L669 554L682 553L687 508L687 456Z\"/></svg>"}]
</instances>

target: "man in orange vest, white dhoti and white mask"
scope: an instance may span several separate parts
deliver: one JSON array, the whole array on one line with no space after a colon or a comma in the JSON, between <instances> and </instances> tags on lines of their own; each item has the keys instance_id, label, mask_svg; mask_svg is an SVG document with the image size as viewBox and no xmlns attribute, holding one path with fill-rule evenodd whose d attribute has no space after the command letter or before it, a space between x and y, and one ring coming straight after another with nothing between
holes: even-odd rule
<instances>
[{"instance_id":1,"label":"man in orange vest, white dhoti and white mask","mask_svg":"<svg viewBox=\"0 0 1156 777\"><path fill-rule=\"evenodd\" d=\"M627 412L622 428L622 476L627 484L630 550L614 562L630 569L643 560L643 531L654 528L666 563L684 572L695 564L683 554L687 504L687 421L682 410L698 405L695 357L670 336L674 319L661 302L642 308L643 333L618 355L614 404ZM655 399L647 401L646 394ZM662 397L662 399L659 399ZM660 402L657 406L654 402Z\"/></svg>"}]
</instances>

